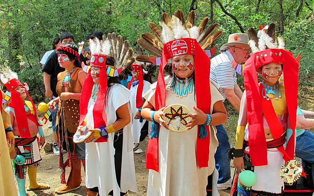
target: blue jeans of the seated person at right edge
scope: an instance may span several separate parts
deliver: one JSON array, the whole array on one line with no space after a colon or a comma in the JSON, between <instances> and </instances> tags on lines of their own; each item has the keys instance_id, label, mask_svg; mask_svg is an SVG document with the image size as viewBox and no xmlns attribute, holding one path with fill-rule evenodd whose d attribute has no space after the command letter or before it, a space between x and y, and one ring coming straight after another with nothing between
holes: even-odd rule
<instances>
[{"instance_id":1,"label":"blue jeans of the seated person at right edge","mask_svg":"<svg viewBox=\"0 0 314 196\"><path fill-rule=\"evenodd\" d=\"M296 137L295 155L302 159L302 165L311 165L314 181L314 134L308 130Z\"/></svg>"}]
</instances>

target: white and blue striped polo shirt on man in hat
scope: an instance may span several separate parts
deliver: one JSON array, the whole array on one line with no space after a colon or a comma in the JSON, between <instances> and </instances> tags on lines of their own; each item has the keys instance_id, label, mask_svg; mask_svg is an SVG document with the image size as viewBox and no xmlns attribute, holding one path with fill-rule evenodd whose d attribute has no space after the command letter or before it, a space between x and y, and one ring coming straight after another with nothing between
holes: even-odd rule
<instances>
[{"instance_id":1,"label":"white and blue striped polo shirt on man in hat","mask_svg":"<svg viewBox=\"0 0 314 196\"><path fill-rule=\"evenodd\" d=\"M236 70L231 61L232 55L229 51L222 52L210 60L210 80L219 84L219 91L225 97L224 88L233 89L237 84Z\"/></svg>"}]
</instances>

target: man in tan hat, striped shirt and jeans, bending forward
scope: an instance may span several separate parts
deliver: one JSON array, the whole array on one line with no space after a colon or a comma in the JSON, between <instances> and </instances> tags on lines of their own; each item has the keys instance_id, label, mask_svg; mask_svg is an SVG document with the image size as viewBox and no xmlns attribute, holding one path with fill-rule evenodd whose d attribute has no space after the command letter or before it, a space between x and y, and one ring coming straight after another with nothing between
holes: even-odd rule
<instances>
[{"instance_id":1,"label":"man in tan hat, striped shirt and jeans, bending forward","mask_svg":"<svg viewBox=\"0 0 314 196\"><path fill-rule=\"evenodd\" d=\"M220 48L221 54L210 61L210 80L219 84L219 91L225 99L239 111L242 91L237 85L236 70L232 60L236 63L245 62L250 56L249 37L245 33L230 34L228 43ZM226 151L230 149L229 138L222 124L216 126L219 146L215 153L216 168L219 172L217 188L224 190L230 188L232 178L230 163L227 161Z\"/></svg>"}]
</instances>

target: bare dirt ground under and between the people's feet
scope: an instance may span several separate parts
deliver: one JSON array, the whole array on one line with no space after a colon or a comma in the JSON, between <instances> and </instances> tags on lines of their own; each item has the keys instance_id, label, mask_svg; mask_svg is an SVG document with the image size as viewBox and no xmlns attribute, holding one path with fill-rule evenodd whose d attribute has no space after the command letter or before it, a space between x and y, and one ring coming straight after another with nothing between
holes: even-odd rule
<instances>
[{"instance_id":1,"label":"bare dirt ground under and between the people's feet","mask_svg":"<svg viewBox=\"0 0 314 196\"><path fill-rule=\"evenodd\" d=\"M48 129L47 125L43 126L45 138L48 142L53 142L52 137L52 129ZM60 169L59 169L59 157L54 155L52 152L45 153L42 151L41 153L42 161L41 167L38 168L37 172L37 181L39 183L48 183L50 185L50 189L43 191L27 191L28 196L56 196L54 193L55 189L61 186L60 183ZM67 156L64 156L67 157ZM136 181L137 181L137 189L138 193L132 194L134 196L146 196L147 184L148 184L148 170L145 169L146 166L146 157L145 154L134 155L134 163L135 163L135 172L136 172ZM234 171L233 168L232 172ZM71 191L71 193L62 194L62 196L85 196L85 173L82 167L82 183L81 188ZM68 178L69 167L66 168L66 178ZM26 178L26 186L28 186L29 181L28 177ZM229 196L230 189L225 191L219 191L221 196ZM301 193L293 193L293 194L284 194L286 196L311 196L312 193L301 194Z\"/></svg>"}]
</instances>

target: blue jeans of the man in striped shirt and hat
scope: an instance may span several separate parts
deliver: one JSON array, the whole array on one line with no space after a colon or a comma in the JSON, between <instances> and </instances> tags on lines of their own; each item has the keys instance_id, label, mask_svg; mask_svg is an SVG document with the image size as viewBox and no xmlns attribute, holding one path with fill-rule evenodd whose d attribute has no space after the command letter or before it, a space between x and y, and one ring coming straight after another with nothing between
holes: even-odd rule
<instances>
[{"instance_id":1,"label":"blue jeans of the man in striped shirt and hat","mask_svg":"<svg viewBox=\"0 0 314 196\"><path fill-rule=\"evenodd\" d=\"M215 126L219 146L215 153L216 169L218 170L218 184L225 183L231 178L230 163L228 162L227 150L230 149L229 138L222 124Z\"/></svg>"}]
</instances>

